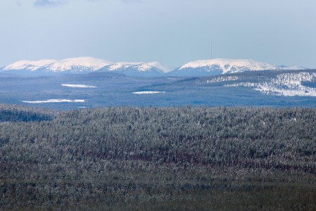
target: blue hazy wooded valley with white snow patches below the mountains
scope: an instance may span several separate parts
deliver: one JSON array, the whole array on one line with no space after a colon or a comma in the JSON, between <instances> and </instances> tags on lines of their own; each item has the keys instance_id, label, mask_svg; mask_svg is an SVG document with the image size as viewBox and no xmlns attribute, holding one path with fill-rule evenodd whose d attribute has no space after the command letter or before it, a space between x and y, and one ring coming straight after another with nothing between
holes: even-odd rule
<instances>
[{"instance_id":1,"label":"blue hazy wooded valley with white snow patches below the mountains","mask_svg":"<svg viewBox=\"0 0 316 211\"><path fill-rule=\"evenodd\" d=\"M316 107L315 75L316 70L261 70L205 77L0 73L0 103L62 110L104 106Z\"/></svg>"}]
</instances>

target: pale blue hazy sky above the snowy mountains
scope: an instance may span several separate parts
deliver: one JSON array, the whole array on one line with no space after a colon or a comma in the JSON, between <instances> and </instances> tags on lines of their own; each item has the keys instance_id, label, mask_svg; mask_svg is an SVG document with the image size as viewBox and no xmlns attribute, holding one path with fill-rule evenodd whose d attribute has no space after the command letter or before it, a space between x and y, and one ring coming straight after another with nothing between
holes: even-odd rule
<instances>
[{"instance_id":1,"label":"pale blue hazy sky above the snowy mountains","mask_svg":"<svg viewBox=\"0 0 316 211\"><path fill-rule=\"evenodd\" d=\"M0 0L0 67L253 59L316 68L315 0Z\"/></svg>"}]
</instances>

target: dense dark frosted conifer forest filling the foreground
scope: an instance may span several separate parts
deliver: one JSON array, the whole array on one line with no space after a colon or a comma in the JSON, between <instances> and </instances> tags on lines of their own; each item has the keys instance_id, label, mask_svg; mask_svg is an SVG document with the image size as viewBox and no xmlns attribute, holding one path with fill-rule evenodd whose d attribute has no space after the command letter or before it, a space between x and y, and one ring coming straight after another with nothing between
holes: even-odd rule
<instances>
[{"instance_id":1,"label":"dense dark frosted conifer forest filling the foreground","mask_svg":"<svg viewBox=\"0 0 316 211\"><path fill-rule=\"evenodd\" d=\"M316 210L316 109L0 105L0 210Z\"/></svg>"}]
</instances>

